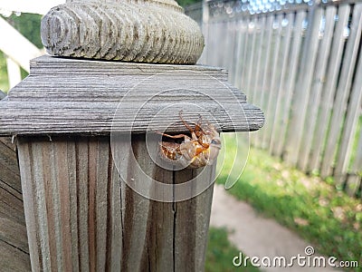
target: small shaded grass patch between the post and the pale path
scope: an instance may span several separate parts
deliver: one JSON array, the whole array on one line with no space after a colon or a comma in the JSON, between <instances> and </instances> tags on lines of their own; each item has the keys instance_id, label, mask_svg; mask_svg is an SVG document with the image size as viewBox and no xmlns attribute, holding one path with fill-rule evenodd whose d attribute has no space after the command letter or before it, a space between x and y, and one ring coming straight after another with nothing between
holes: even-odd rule
<instances>
[{"instance_id":1,"label":"small shaded grass patch between the post and the pale path","mask_svg":"<svg viewBox=\"0 0 362 272\"><path fill-rule=\"evenodd\" d=\"M206 251L206 272L257 272L256 267L252 267L250 262L246 267L234 267L233 257L239 256L240 250L235 248L227 238L228 233L225 228L210 228L209 240Z\"/></svg>"}]
</instances>

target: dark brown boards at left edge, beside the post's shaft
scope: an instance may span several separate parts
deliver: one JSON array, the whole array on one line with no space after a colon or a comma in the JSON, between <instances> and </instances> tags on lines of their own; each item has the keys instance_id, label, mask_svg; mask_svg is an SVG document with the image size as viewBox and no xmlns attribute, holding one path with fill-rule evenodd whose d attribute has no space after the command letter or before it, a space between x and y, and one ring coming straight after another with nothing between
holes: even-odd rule
<instances>
[{"instance_id":1,"label":"dark brown boards at left edge, beside the post's shaft","mask_svg":"<svg viewBox=\"0 0 362 272\"><path fill-rule=\"evenodd\" d=\"M30 271L22 186L15 146L0 138L0 269Z\"/></svg>"}]
</instances>

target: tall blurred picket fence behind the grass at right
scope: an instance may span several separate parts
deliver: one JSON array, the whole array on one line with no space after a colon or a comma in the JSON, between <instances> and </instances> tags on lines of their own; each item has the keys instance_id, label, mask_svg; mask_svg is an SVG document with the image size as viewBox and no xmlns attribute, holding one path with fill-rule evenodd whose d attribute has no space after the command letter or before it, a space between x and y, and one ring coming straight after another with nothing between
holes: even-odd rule
<instances>
[{"instance_id":1,"label":"tall blurred picket fence behind the grass at right","mask_svg":"<svg viewBox=\"0 0 362 272\"><path fill-rule=\"evenodd\" d=\"M205 34L200 62L227 68L265 112L254 146L360 196L362 3L273 5L212 0L187 7Z\"/></svg>"}]
</instances>

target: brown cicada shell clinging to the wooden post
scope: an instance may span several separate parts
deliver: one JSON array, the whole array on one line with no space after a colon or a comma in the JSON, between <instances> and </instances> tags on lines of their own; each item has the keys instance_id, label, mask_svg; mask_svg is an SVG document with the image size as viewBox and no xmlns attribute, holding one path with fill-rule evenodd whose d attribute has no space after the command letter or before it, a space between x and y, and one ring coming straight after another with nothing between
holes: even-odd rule
<instances>
[{"instance_id":1,"label":"brown cicada shell clinging to the wooden post","mask_svg":"<svg viewBox=\"0 0 362 272\"><path fill-rule=\"evenodd\" d=\"M160 141L160 153L163 159L171 162L181 163L183 166L190 168L200 168L213 164L221 150L221 141L218 131L214 125L208 121L203 121L200 117L192 128L182 118L182 112L179 113L180 119L190 131L191 137L186 134L161 135L170 139L183 139L182 142Z\"/></svg>"}]
</instances>

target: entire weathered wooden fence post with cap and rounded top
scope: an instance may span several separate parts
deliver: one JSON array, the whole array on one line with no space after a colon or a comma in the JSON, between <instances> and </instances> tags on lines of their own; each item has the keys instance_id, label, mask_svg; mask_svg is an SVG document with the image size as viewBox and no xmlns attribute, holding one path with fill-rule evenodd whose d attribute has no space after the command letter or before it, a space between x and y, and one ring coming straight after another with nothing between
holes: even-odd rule
<instances>
[{"instance_id":1,"label":"entire weathered wooden fence post with cap and rounded top","mask_svg":"<svg viewBox=\"0 0 362 272\"><path fill-rule=\"evenodd\" d=\"M164 167L154 132L185 132L181 110L255 131L262 112L224 69L179 65L197 61L203 38L176 2L69 1L44 16L42 38L55 55L146 63L43 56L1 102L33 271L203 270L215 164Z\"/></svg>"}]
</instances>

